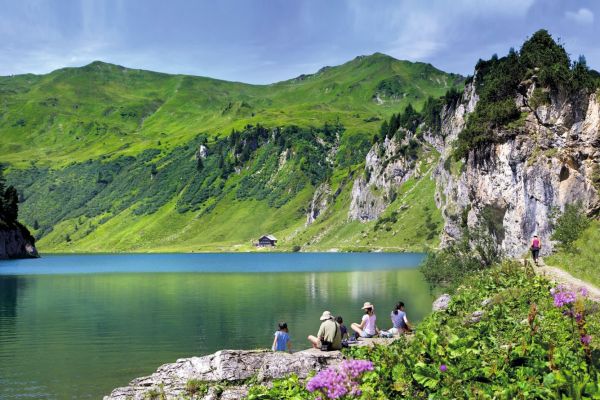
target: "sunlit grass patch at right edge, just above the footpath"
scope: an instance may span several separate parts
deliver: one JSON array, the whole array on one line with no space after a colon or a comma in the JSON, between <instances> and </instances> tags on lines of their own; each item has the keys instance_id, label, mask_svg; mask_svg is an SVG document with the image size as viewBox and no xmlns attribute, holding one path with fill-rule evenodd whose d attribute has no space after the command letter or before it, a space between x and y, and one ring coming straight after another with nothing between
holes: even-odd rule
<instances>
[{"instance_id":1,"label":"sunlit grass patch at right edge, just above the footpath","mask_svg":"<svg viewBox=\"0 0 600 400\"><path fill-rule=\"evenodd\" d=\"M545 262L600 287L598 254L600 254L600 221L595 220L575 241L573 252L558 251L546 257Z\"/></svg>"}]
</instances>

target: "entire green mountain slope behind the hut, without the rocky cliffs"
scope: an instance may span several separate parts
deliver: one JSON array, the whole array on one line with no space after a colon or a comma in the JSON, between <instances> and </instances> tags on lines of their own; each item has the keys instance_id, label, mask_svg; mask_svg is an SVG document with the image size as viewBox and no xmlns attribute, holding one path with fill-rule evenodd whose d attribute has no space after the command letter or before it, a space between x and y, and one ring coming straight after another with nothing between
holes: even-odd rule
<instances>
[{"instance_id":1,"label":"entire green mountain slope behind the hut, without the rocky cliffs","mask_svg":"<svg viewBox=\"0 0 600 400\"><path fill-rule=\"evenodd\" d=\"M102 62L0 77L0 159L42 251L250 249L262 233L283 248L413 248L346 221L351 175L381 120L461 85L377 53L271 85ZM323 183L336 204L306 227ZM340 225L344 238L326 233Z\"/></svg>"}]
</instances>

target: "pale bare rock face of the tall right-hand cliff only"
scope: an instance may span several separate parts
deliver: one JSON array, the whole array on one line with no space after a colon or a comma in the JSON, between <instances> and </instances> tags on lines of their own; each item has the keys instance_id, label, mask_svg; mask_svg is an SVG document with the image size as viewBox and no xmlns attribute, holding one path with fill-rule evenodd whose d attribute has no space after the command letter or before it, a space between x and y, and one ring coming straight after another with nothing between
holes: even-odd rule
<instances>
[{"instance_id":1,"label":"pale bare rock face of the tall right-hand cliff only","mask_svg":"<svg viewBox=\"0 0 600 400\"><path fill-rule=\"evenodd\" d=\"M443 243L456 239L461 226L476 226L485 216L495 226L499 247L509 256L527 251L533 234L542 253L552 251L553 213L581 202L588 213L600 209L592 175L600 162L600 106L594 94L585 101L555 95L532 108L535 84L515 101L526 116L520 126L498 132L500 143L472 150L461 171L449 171L449 150L477 102L467 86L461 105L444 117L445 157L436 170ZM491 222L490 222L491 220Z\"/></svg>"}]
</instances>

